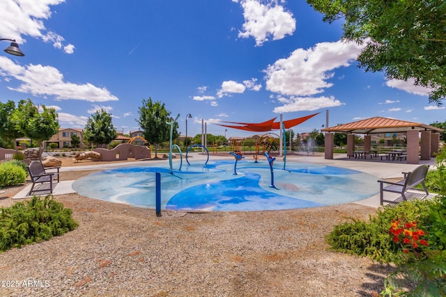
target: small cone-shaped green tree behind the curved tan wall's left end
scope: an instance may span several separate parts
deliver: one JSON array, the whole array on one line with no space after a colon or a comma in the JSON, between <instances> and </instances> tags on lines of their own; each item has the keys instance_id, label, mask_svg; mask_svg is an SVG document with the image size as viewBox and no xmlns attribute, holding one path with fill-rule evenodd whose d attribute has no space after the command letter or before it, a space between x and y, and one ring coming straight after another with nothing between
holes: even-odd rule
<instances>
[{"instance_id":1,"label":"small cone-shaped green tree behind the curved tan wall's left end","mask_svg":"<svg viewBox=\"0 0 446 297\"><path fill-rule=\"evenodd\" d=\"M86 121L84 138L88 143L105 145L116 139L116 128L112 123L112 114L104 109L96 111Z\"/></svg>"}]
</instances>

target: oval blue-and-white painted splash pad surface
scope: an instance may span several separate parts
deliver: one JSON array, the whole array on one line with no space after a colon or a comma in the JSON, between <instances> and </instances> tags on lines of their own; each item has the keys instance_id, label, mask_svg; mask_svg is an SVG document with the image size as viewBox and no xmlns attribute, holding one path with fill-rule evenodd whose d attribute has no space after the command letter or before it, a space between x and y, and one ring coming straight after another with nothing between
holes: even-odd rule
<instances>
[{"instance_id":1,"label":"oval blue-and-white painted splash pad surface","mask_svg":"<svg viewBox=\"0 0 446 297\"><path fill-rule=\"evenodd\" d=\"M378 193L376 177L356 170L275 161L274 186L268 162L215 161L169 168L135 166L77 179L73 189L100 200L155 208L155 172L161 174L162 209L259 211L344 204ZM175 165L178 164L174 163Z\"/></svg>"}]
</instances>

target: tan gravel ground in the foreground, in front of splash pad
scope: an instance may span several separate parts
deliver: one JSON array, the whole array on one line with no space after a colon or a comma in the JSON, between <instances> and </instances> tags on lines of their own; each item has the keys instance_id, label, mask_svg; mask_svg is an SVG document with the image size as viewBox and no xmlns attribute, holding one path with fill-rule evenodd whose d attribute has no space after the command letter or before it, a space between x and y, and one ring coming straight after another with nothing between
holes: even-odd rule
<instances>
[{"instance_id":1,"label":"tan gravel ground in the foreground, in front of splash pad","mask_svg":"<svg viewBox=\"0 0 446 297\"><path fill-rule=\"evenodd\" d=\"M22 187L3 189L0 207ZM78 194L56 200L79 227L0 253L0 296L377 296L393 269L328 250L334 225L376 212L357 204L157 217Z\"/></svg>"}]
</instances>

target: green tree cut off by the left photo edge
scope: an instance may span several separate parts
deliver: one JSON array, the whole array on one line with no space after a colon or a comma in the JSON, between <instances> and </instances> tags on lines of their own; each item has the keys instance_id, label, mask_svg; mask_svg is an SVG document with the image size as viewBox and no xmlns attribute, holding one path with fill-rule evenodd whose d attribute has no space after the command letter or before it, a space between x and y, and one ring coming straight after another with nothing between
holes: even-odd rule
<instances>
[{"instance_id":1,"label":"green tree cut off by the left photo edge","mask_svg":"<svg viewBox=\"0 0 446 297\"><path fill-rule=\"evenodd\" d=\"M17 125L13 121L13 112L15 111L15 102L8 101L6 103L0 102L0 135L1 147L17 147L15 146L15 138L19 138L23 134L17 129Z\"/></svg>"}]
</instances>

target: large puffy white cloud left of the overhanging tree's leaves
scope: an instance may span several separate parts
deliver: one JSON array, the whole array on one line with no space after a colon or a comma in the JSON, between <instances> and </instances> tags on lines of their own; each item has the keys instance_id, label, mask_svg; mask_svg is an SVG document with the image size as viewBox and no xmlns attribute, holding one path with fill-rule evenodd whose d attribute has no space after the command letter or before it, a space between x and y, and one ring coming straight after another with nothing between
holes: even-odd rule
<instances>
[{"instance_id":1,"label":"large puffy white cloud left of the overhanging tree's leaves","mask_svg":"<svg viewBox=\"0 0 446 297\"><path fill-rule=\"evenodd\" d=\"M321 42L311 49L296 49L288 58L277 60L266 70L266 89L282 95L309 96L323 93L334 75L348 67L362 47L354 42Z\"/></svg>"}]
</instances>

